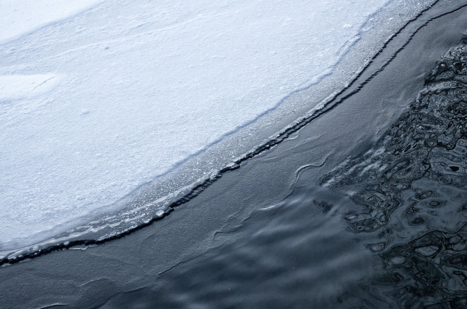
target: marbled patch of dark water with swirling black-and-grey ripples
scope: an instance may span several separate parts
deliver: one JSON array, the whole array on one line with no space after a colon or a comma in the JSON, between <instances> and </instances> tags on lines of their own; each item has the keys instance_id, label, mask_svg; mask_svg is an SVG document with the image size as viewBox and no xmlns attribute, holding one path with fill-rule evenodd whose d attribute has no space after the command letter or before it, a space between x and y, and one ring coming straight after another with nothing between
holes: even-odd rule
<instances>
[{"instance_id":1,"label":"marbled patch of dark water with swirling black-and-grey ripples","mask_svg":"<svg viewBox=\"0 0 467 309\"><path fill-rule=\"evenodd\" d=\"M343 220L366 232L382 259L369 288L375 299L467 308L467 39L438 61L372 149L320 184L362 206Z\"/></svg>"}]
</instances>

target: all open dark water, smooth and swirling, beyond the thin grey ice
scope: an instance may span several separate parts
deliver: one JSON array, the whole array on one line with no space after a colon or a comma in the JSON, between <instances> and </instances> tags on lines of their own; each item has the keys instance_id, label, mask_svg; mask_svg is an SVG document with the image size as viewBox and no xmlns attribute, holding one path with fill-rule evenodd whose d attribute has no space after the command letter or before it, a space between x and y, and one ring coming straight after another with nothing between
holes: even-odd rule
<instances>
[{"instance_id":1,"label":"all open dark water, smooth and swirling, beyond the thin grey ice","mask_svg":"<svg viewBox=\"0 0 467 309\"><path fill-rule=\"evenodd\" d=\"M376 143L309 167L219 232L239 240L101 308L467 308L467 39Z\"/></svg>"}]
</instances>

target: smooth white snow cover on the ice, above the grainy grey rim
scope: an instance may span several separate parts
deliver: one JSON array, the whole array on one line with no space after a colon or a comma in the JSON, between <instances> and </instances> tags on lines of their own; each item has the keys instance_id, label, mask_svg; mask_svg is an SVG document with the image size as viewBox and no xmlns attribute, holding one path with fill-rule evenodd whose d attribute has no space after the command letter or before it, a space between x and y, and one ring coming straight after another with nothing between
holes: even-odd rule
<instances>
[{"instance_id":1,"label":"smooth white snow cover on the ice, above the grainy grey rim","mask_svg":"<svg viewBox=\"0 0 467 309\"><path fill-rule=\"evenodd\" d=\"M0 249L63 232L318 82L386 2L0 0Z\"/></svg>"}]
</instances>

